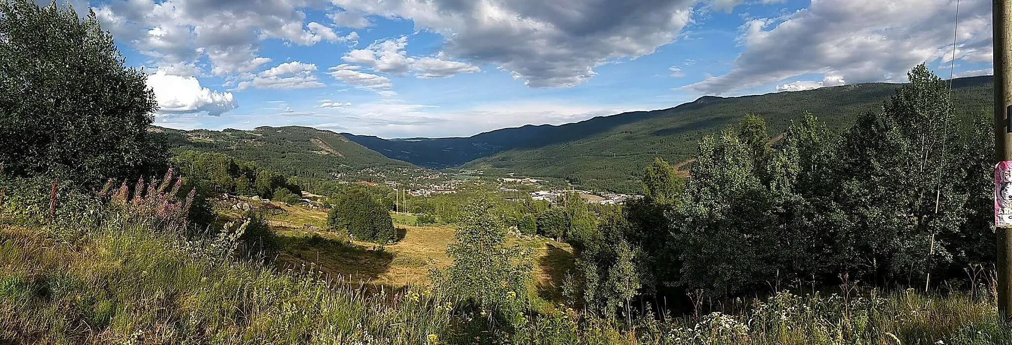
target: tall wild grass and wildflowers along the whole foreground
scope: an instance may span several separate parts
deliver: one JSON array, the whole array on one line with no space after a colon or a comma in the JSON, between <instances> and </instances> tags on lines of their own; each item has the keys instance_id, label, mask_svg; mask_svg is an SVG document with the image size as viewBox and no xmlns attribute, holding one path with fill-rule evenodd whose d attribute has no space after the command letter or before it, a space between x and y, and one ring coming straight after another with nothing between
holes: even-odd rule
<instances>
[{"instance_id":1,"label":"tall wild grass and wildflowers along the whole foreground","mask_svg":"<svg viewBox=\"0 0 1012 345\"><path fill-rule=\"evenodd\" d=\"M560 306L492 327L497 316L480 306L424 288L375 292L312 266L238 259L242 224L187 237L69 189L50 221L51 185L0 179L10 189L0 206L3 344L1012 344L991 279L931 294L780 292L631 327Z\"/></svg>"}]
</instances>

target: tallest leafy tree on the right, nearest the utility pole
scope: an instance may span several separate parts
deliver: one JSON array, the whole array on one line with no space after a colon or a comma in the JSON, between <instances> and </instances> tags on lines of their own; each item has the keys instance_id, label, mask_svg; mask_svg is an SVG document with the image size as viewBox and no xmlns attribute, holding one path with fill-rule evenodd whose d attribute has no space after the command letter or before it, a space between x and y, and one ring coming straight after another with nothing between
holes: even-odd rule
<instances>
[{"instance_id":1,"label":"tallest leafy tree on the right, nearest the utility pole","mask_svg":"<svg viewBox=\"0 0 1012 345\"><path fill-rule=\"evenodd\" d=\"M920 280L951 247L938 236L961 232L968 194L954 155L957 124L948 84L922 64L882 106L866 113L843 135L838 151L838 201L850 209L855 266L875 277ZM932 240L934 238L934 240Z\"/></svg>"}]
</instances>

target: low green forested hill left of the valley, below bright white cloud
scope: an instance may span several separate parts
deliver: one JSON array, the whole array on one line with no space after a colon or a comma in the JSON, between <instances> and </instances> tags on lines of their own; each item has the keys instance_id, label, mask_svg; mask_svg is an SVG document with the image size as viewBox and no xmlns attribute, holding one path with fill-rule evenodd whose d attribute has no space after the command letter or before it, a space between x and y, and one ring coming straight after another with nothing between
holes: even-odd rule
<instances>
[{"instance_id":1,"label":"low green forested hill left of the valley, below bright white cloud","mask_svg":"<svg viewBox=\"0 0 1012 345\"><path fill-rule=\"evenodd\" d=\"M306 126L260 126L253 131L154 127L154 131L166 133L173 148L225 153L290 176L328 178L331 173L355 173L363 169L417 169L411 163L388 158L336 133Z\"/></svg>"}]
</instances>

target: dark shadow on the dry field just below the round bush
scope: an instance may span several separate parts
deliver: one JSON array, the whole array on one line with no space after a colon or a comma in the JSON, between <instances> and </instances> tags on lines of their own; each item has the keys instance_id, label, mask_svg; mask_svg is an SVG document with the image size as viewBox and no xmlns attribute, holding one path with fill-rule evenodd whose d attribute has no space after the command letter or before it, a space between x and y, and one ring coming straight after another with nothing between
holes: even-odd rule
<instances>
[{"instance_id":1,"label":"dark shadow on the dry field just below the round bush","mask_svg":"<svg viewBox=\"0 0 1012 345\"><path fill-rule=\"evenodd\" d=\"M319 235L311 237L285 237L278 239L281 254L277 264L282 268L299 269L315 263L317 268L331 277L348 281L369 281L390 269L394 253L370 249L339 239ZM376 247L382 248L382 247Z\"/></svg>"}]
</instances>

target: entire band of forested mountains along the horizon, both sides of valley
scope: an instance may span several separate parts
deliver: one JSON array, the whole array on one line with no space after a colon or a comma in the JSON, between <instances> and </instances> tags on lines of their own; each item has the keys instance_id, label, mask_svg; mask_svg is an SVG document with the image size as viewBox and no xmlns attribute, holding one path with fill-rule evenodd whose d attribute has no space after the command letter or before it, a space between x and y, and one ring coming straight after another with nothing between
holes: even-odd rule
<instances>
[{"instance_id":1,"label":"entire band of forested mountains along the horizon, both sides of valley","mask_svg":"<svg viewBox=\"0 0 1012 345\"><path fill-rule=\"evenodd\" d=\"M990 108L992 81L992 76L951 80L953 104L961 118ZM177 132L176 147L223 152L245 160L266 160L261 163L296 176L300 171L319 177L323 173L347 173L354 169L461 167L565 178L588 189L637 192L639 174L654 158L672 163L687 161L694 155L699 139L733 125L746 113L765 118L771 136L784 131L805 112L812 112L831 128L842 131L857 114L879 110L882 102L902 85L864 83L734 97L708 95L664 109L626 111L564 124L526 124L471 137L388 140L308 126L220 132L164 130ZM223 143L194 139L212 133L218 134L215 136L221 137L218 140ZM254 140L258 136L265 139ZM321 159L324 155L312 152L327 150L315 143L313 136L326 138L321 142L346 157L331 153ZM688 165L683 167L687 168Z\"/></svg>"}]
</instances>

